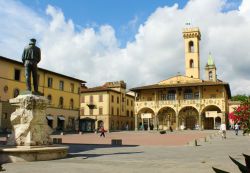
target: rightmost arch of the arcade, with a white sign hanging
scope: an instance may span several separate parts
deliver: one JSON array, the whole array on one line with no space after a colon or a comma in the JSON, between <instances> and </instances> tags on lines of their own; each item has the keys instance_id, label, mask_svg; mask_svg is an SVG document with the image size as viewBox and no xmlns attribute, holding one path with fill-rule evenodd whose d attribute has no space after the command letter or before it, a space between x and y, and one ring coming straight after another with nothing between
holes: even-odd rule
<instances>
[{"instance_id":1,"label":"rightmost arch of the arcade, with a white sign hanging","mask_svg":"<svg viewBox=\"0 0 250 173\"><path fill-rule=\"evenodd\" d=\"M221 110L215 105L206 106L202 110L202 124L204 129L219 129L221 124Z\"/></svg>"}]
</instances>

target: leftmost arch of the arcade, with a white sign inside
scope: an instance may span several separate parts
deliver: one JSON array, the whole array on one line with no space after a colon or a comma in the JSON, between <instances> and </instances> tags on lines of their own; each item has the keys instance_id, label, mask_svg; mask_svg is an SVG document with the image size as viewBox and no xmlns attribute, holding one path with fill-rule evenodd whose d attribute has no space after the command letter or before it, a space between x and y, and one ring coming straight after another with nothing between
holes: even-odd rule
<instances>
[{"instance_id":1,"label":"leftmost arch of the arcade, with a white sign inside","mask_svg":"<svg viewBox=\"0 0 250 173\"><path fill-rule=\"evenodd\" d=\"M154 128L154 111L150 108L142 108L138 112L139 130L153 130Z\"/></svg>"}]
</instances>

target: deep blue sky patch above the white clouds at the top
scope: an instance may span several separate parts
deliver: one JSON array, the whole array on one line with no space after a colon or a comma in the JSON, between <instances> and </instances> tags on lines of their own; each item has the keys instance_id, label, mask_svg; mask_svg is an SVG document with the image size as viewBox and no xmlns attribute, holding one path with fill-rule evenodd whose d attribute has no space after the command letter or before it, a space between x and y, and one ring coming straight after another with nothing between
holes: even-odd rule
<instances>
[{"instance_id":1,"label":"deep blue sky patch above the white clouds at the top","mask_svg":"<svg viewBox=\"0 0 250 173\"><path fill-rule=\"evenodd\" d=\"M225 11L238 8L242 0L227 0ZM21 0L22 3L44 15L48 4L60 8L66 19L72 19L76 29L111 25L124 47L133 41L140 24L158 7L178 4L182 9L188 0Z\"/></svg>"}]
</instances>

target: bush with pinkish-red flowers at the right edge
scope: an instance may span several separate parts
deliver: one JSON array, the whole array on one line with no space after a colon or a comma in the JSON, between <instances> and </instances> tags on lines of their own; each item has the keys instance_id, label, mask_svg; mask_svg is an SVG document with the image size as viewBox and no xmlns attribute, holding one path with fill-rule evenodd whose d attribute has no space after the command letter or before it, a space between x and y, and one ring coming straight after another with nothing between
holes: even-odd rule
<instances>
[{"instance_id":1,"label":"bush with pinkish-red flowers at the right edge","mask_svg":"<svg viewBox=\"0 0 250 173\"><path fill-rule=\"evenodd\" d=\"M250 132L250 102L244 101L238 108L229 114L229 119L235 123L241 123L245 132Z\"/></svg>"}]
</instances>

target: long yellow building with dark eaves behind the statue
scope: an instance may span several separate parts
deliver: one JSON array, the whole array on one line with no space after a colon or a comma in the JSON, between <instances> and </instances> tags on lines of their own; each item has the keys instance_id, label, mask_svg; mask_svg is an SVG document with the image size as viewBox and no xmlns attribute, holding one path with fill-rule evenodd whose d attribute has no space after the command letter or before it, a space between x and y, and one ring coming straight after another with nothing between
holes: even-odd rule
<instances>
[{"instance_id":1,"label":"long yellow building with dark eaves behind the statue","mask_svg":"<svg viewBox=\"0 0 250 173\"><path fill-rule=\"evenodd\" d=\"M38 69L39 91L50 100L48 124L53 129L75 130L79 121L80 88L83 80L46 69ZM9 129L14 111L8 103L26 90L25 69L21 62L0 56L0 128Z\"/></svg>"}]
</instances>

